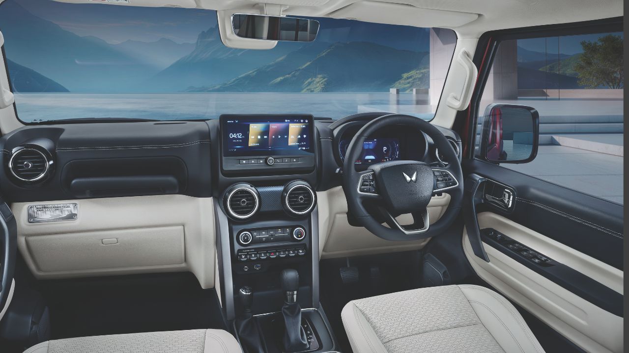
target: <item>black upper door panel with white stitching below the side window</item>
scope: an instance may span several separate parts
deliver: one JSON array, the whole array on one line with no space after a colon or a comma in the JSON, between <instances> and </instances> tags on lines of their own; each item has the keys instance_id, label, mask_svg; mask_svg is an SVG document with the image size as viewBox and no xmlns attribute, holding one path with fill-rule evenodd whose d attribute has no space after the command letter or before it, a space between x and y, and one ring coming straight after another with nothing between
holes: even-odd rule
<instances>
[{"instance_id":1,"label":"black upper door panel with white stitching below the side window","mask_svg":"<svg viewBox=\"0 0 629 353\"><path fill-rule=\"evenodd\" d=\"M623 270L622 206L484 161L464 161L464 172L515 188L509 219Z\"/></svg>"}]
</instances>

